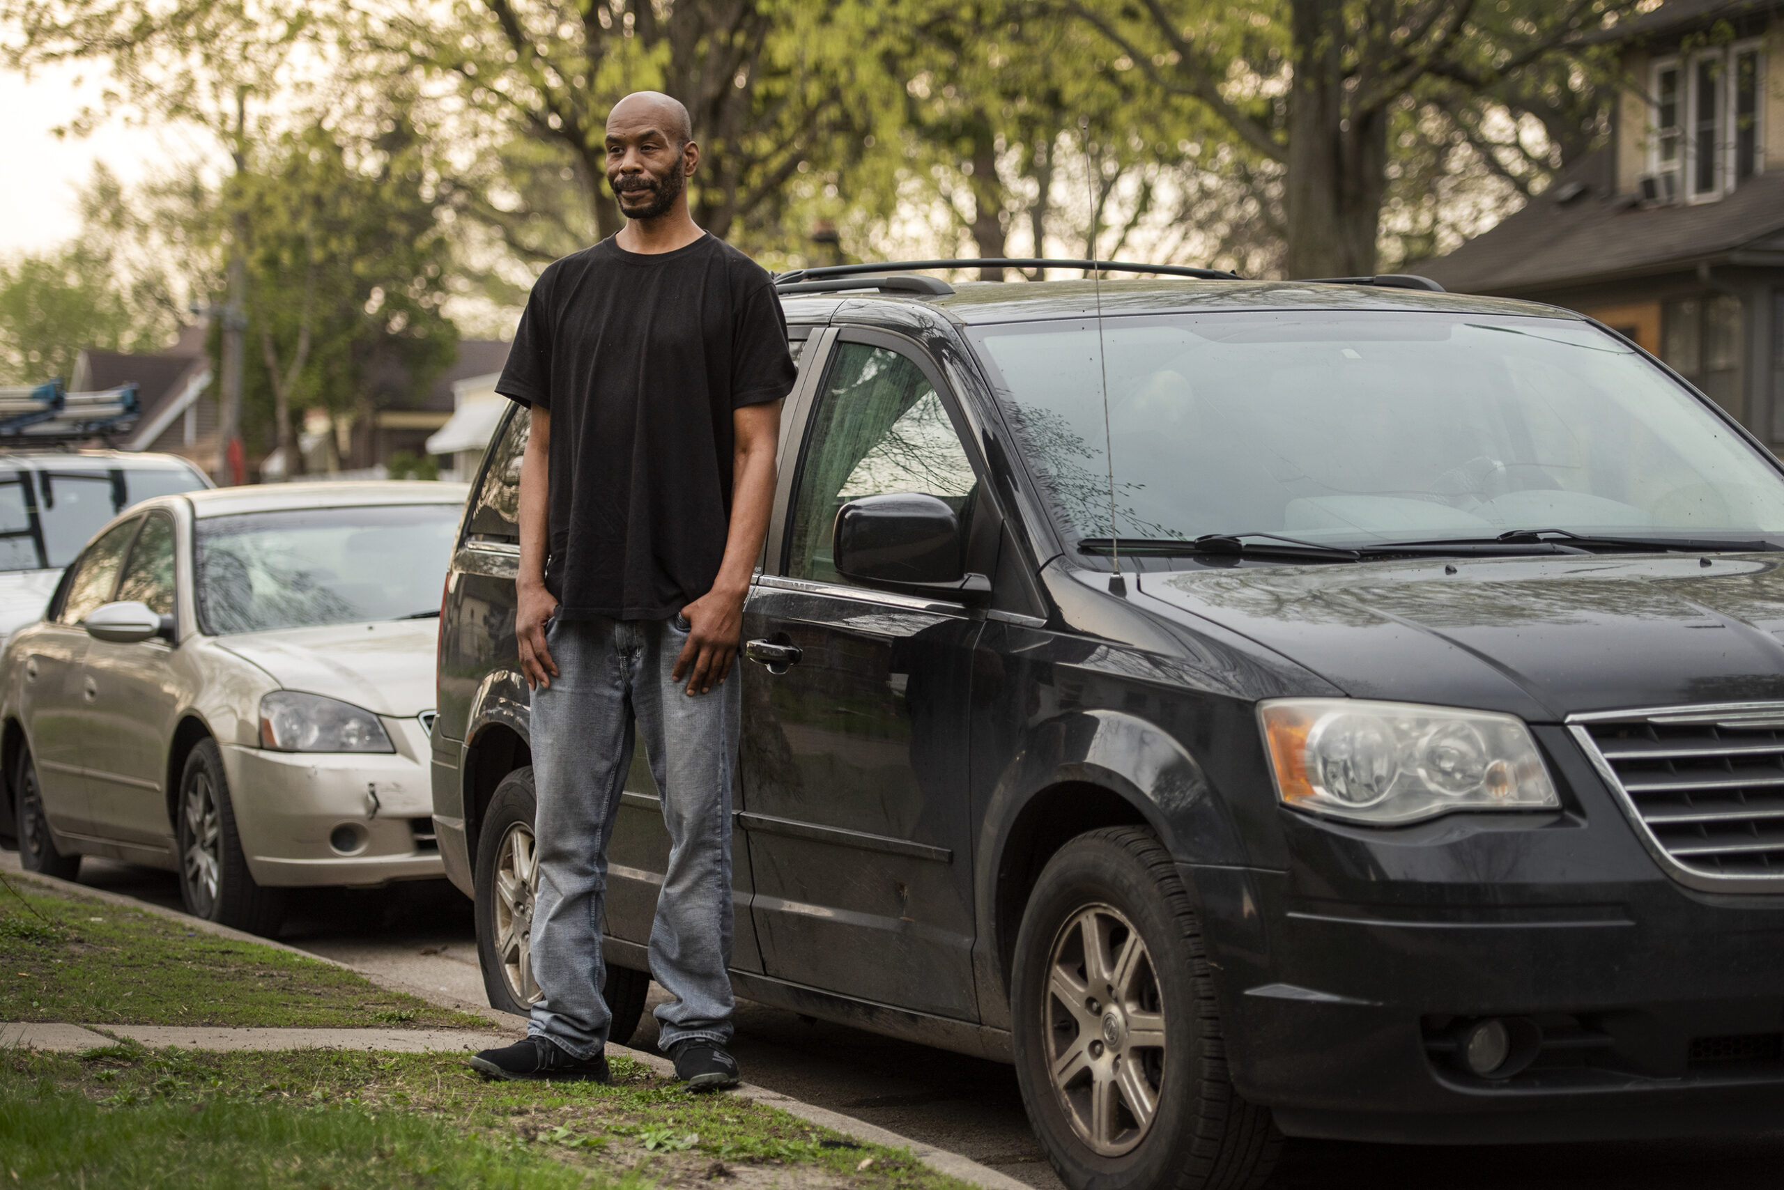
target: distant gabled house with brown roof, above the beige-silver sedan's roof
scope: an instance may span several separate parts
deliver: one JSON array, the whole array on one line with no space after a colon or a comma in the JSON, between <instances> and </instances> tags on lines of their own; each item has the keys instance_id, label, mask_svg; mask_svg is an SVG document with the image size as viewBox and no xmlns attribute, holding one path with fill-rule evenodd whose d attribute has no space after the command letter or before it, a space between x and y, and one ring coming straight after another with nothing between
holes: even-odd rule
<instances>
[{"instance_id":1,"label":"distant gabled house with brown roof, above the beige-silver sedan's roof","mask_svg":"<svg viewBox=\"0 0 1784 1190\"><path fill-rule=\"evenodd\" d=\"M70 393L136 385L141 414L114 444L191 459L211 469L218 453L218 401L211 393L205 326L186 326L166 351L132 353L87 348L75 357Z\"/></svg>"}]
</instances>

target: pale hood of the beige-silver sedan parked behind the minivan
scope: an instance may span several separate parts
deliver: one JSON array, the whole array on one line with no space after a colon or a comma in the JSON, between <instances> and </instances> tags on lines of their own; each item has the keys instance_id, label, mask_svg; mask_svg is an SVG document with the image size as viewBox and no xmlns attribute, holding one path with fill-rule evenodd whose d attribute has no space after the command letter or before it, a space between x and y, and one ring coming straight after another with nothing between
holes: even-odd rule
<instances>
[{"instance_id":1,"label":"pale hood of the beige-silver sedan parked behind the minivan","mask_svg":"<svg viewBox=\"0 0 1784 1190\"><path fill-rule=\"evenodd\" d=\"M407 719L434 707L437 619L284 628L219 637L218 644L287 690L339 698Z\"/></svg>"}]
</instances>

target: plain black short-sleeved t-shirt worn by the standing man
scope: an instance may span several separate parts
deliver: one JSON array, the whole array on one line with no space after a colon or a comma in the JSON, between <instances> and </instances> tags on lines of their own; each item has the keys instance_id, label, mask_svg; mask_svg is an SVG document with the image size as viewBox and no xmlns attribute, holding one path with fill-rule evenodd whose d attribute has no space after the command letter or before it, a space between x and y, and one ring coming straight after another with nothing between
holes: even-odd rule
<instances>
[{"instance_id":1,"label":"plain black short-sleeved t-shirt worn by the standing man","mask_svg":"<svg viewBox=\"0 0 1784 1190\"><path fill-rule=\"evenodd\" d=\"M712 591L731 412L794 375L769 275L714 236L657 255L603 239L539 275L496 391L551 410L560 616L667 619Z\"/></svg>"}]
</instances>

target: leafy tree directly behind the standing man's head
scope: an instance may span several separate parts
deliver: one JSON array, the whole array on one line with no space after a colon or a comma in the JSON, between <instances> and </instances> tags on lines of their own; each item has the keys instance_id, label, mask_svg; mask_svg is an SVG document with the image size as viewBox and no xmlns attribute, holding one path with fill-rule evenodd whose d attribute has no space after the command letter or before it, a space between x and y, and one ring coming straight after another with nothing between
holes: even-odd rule
<instances>
[{"instance_id":1,"label":"leafy tree directly behind the standing man's head","mask_svg":"<svg viewBox=\"0 0 1784 1190\"><path fill-rule=\"evenodd\" d=\"M696 221L758 244L785 239L796 178L814 161L858 152L880 120L847 102L858 34L874 23L865 0L457 0L357 18L359 61L451 80L485 146L524 162L532 177L521 186L483 173L464 202L528 255L555 253L564 230L580 243L619 230L603 132L628 91L660 89L689 107L705 150L690 187ZM583 203L567 221L566 182Z\"/></svg>"}]
</instances>

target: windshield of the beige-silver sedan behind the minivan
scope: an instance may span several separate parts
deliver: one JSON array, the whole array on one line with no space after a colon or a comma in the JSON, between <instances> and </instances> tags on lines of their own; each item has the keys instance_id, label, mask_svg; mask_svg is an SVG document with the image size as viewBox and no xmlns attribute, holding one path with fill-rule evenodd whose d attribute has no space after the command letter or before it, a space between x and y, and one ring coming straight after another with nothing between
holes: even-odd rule
<instances>
[{"instance_id":1,"label":"windshield of the beige-silver sedan behind the minivan","mask_svg":"<svg viewBox=\"0 0 1784 1190\"><path fill-rule=\"evenodd\" d=\"M211 635L439 612L458 505L294 508L198 521Z\"/></svg>"}]
</instances>

